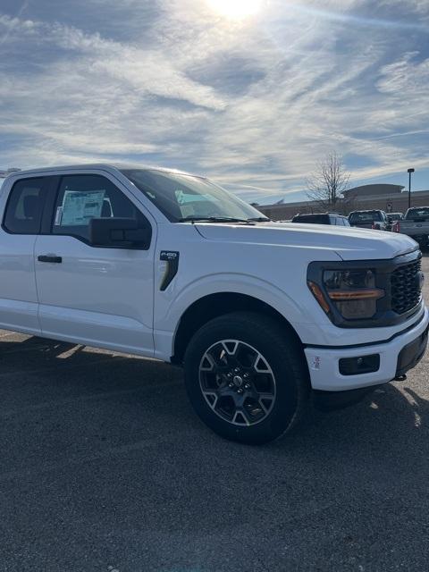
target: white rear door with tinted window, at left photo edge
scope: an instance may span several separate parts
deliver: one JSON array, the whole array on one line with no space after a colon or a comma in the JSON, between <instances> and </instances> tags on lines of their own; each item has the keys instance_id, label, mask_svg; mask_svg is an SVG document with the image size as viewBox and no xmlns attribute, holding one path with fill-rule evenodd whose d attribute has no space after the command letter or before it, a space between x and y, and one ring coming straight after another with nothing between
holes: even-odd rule
<instances>
[{"instance_id":1,"label":"white rear door with tinted window, at left photo edge","mask_svg":"<svg viewBox=\"0 0 429 572\"><path fill-rule=\"evenodd\" d=\"M34 248L48 181L46 177L4 182L0 212L0 328L40 334Z\"/></svg>"}]
</instances>

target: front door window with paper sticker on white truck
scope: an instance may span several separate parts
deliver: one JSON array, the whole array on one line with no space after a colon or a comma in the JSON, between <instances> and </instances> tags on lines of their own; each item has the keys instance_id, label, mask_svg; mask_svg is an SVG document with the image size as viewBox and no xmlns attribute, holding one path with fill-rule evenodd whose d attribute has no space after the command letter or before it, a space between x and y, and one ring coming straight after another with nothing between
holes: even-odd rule
<instances>
[{"instance_id":1,"label":"front door window with paper sticker on white truck","mask_svg":"<svg viewBox=\"0 0 429 572\"><path fill-rule=\"evenodd\" d=\"M88 227L92 218L133 218L146 221L130 199L105 177L63 177L56 198L52 232L68 234L88 242Z\"/></svg>"}]
</instances>

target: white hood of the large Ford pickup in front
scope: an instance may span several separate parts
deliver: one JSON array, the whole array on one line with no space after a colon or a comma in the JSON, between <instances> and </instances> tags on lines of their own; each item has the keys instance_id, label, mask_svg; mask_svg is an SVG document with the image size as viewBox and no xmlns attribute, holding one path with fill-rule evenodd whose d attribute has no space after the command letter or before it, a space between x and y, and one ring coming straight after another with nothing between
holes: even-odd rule
<instances>
[{"instance_id":1,"label":"white hood of the large Ford pickup in front","mask_svg":"<svg viewBox=\"0 0 429 572\"><path fill-rule=\"evenodd\" d=\"M389 259L417 248L397 232L301 223L196 223L207 240L334 250L343 260Z\"/></svg>"}]
</instances>

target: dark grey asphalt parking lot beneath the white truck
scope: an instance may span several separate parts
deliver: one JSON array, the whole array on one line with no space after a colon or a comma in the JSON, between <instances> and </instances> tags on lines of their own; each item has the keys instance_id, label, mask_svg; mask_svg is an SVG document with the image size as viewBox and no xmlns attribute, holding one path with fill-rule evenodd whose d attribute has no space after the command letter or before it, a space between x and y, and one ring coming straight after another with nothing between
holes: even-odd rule
<instances>
[{"instance_id":1,"label":"dark grey asphalt parking lot beneath the white truck","mask_svg":"<svg viewBox=\"0 0 429 572\"><path fill-rule=\"evenodd\" d=\"M0 331L0 570L427 570L428 366L252 448L178 368Z\"/></svg>"}]
</instances>

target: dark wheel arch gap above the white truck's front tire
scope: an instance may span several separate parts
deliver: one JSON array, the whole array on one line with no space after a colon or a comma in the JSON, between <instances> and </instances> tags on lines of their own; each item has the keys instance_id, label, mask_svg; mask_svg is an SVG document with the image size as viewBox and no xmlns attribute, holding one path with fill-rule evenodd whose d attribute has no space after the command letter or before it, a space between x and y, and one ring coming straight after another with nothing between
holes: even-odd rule
<instances>
[{"instance_id":1,"label":"dark wheel arch gap above the white truck's front tire","mask_svg":"<svg viewBox=\"0 0 429 572\"><path fill-rule=\"evenodd\" d=\"M236 311L250 311L262 315L270 315L277 324L289 332L299 343L299 346L303 348L303 344L294 327L284 315L273 306L248 294L223 291L208 294L194 301L183 312L173 338L172 363L181 364L190 339L200 327L215 317L231 314Z\"/></svg>"}]
</instances>

